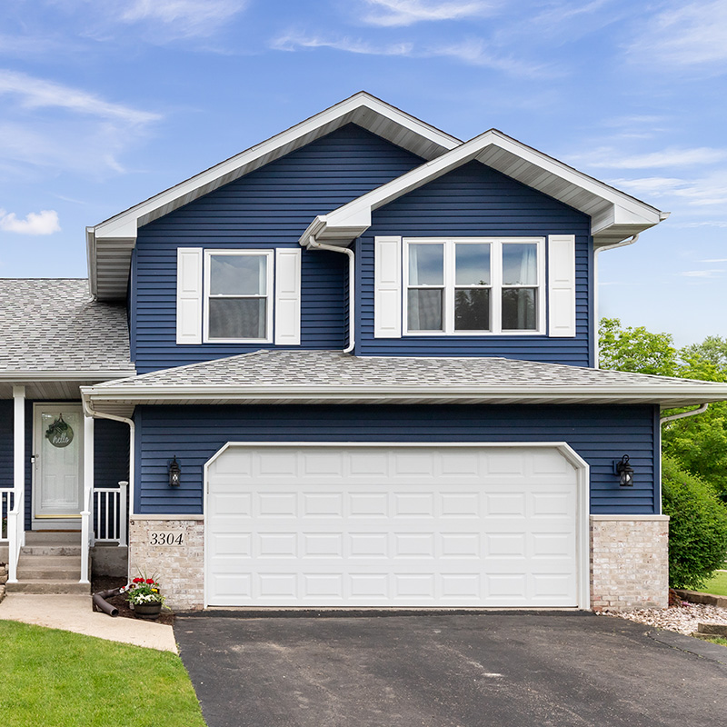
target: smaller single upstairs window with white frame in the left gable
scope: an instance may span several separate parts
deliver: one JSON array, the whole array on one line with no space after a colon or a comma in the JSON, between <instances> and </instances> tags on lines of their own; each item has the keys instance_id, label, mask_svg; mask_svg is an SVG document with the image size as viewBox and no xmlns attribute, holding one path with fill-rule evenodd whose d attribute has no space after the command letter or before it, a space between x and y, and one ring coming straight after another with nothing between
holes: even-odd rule
<instances>
[{"instance_id":1,"label":"smaller single upstairs window with white frame in the left gable","mask_svg":"<svg viewBox=\"0 0 727 727\"><path fill-rule=\"evenodd\" d=\"M205 251L204 340L272 342L272 296L273 251Z\"/></svg>"}]
</instances>

